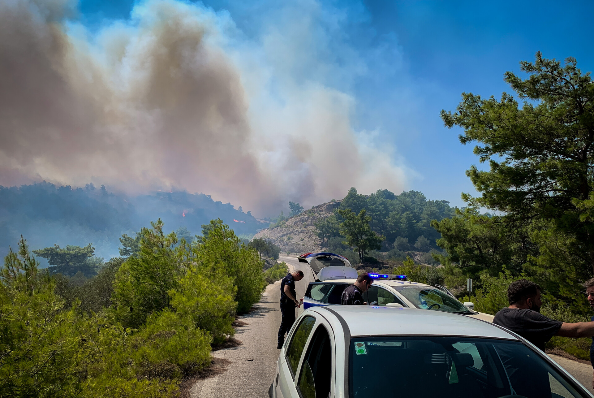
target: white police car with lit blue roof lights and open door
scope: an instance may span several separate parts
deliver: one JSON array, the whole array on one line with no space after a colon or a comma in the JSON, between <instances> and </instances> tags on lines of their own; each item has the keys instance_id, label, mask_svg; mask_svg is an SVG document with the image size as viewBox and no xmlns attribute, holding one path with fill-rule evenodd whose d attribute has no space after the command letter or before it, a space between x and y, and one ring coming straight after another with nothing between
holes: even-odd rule
<instances>
[{"instance_id":1,"label":"white police car with lit blue roof lights and open door","mask_svg":"<svg viewBox=\"0 0 594 398\"><path fill-rule=\"evenodd\" d=\"M432 311L454 312L492 322L493 315L474 311L472 302L462 304L443 286L410 282L406 275L370 273L374 279L371 288L363 293L369 305L409 307ZM340 305L343 290L355 283L357 271L352 267L326 267L318 271L317 282L311 282L299 303L298 312L307 308ZM393 279L388 279L388 278Z\"/></svg>"}]
</instances>

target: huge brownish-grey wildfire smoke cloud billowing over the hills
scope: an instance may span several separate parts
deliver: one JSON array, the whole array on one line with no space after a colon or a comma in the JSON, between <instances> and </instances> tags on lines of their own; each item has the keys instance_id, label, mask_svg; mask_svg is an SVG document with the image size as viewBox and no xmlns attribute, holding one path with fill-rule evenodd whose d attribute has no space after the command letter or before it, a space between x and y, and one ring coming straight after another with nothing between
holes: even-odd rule
<instances>
[{"instance_id":1,"label":"huge brownish-grey wildfire smoke cloud billowing over the hills","mask_svg":"<svg viewBox=\"0 0 594 398\"><path fill-rule=\"evenodd\" d=\"M355 99L295 72L315 63L308 14L252 42L228 14L175 0L96 33L72 15L68 1L0 2L0 185L184 188L264 215L403 188L390 151L352 128Z\"/></svg>"}]
</instances>

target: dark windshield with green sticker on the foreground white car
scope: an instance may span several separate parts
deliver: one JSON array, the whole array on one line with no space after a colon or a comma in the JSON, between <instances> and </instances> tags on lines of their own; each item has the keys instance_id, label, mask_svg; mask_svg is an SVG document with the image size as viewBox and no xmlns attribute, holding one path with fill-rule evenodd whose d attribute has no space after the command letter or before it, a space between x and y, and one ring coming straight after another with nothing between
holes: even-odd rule
<instances>
[{"instance_id":1,"label":"dark windshield with green sticker on the foreground white car","mask_svg":"<svg viewBox=\"0 0 594 398\"><path fill-rule=\"evenodd\" d=\"M352 337L349 396L586 397L520 342L470 337Z\"/></svg>"}]
</instances>

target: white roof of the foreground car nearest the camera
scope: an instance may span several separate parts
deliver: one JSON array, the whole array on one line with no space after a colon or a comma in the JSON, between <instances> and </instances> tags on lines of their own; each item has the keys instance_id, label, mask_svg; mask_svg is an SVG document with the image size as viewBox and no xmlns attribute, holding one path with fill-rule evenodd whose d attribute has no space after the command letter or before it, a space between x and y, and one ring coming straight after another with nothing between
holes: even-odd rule
<instances>
[{"instance_id":1,"label":"white roof of the foreground car nearest the camera","mask_svg":"<svg viewBox=\"0 0 594 398\"><path fill-rule=\"evenodd\" d=\"M491 323L450 312L368 305L312 307L305 312L308 311L339 321L342 318L351 336L434 335L518 340L513 334Z\"/></svg>"}]
</instances>

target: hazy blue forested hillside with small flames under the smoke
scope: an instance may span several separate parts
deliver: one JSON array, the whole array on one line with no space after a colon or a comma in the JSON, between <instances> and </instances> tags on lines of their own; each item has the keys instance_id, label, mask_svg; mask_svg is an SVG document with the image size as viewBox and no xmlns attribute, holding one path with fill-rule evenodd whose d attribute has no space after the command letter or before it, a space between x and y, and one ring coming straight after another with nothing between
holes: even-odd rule
<instances>
[{"instance_id":1,"label":"hazy blue forested hillside with small flames under the smoke","mask_svg":"<svg viewBox=\"0 0 594 398\"><path fill-rule=\"evenodd\" d=\"M92 243L96 255L109 258L118 255L122 233L133 236L157 218L172 230L185 227L191 235L200 234L201 225L217 218L243 236L265 226L249 211L210 195L178 191L128 197L93 184L72 188L42 182L0 187L0 255L23 235L33 249Z\"/></svg>"}]
</instances>

